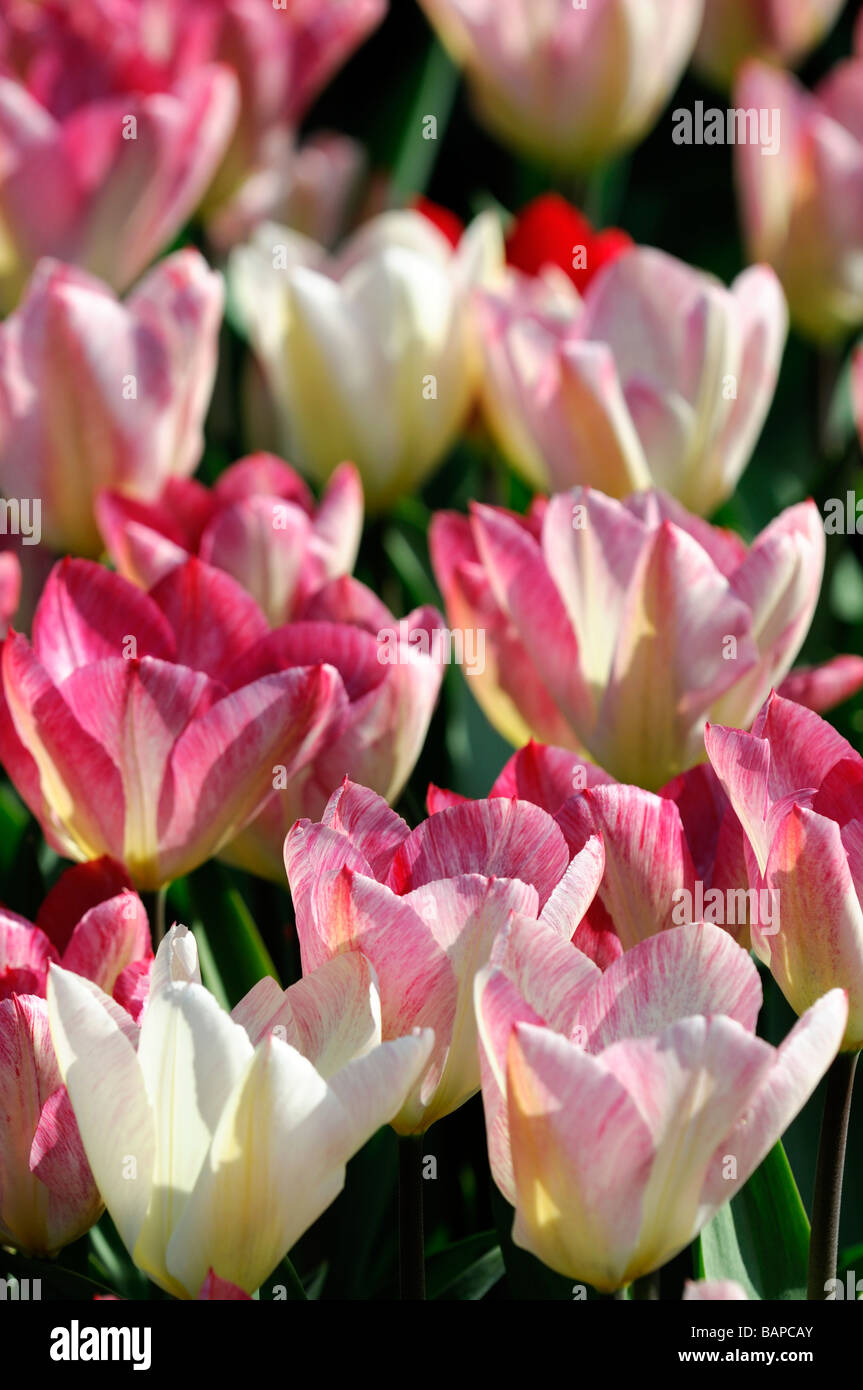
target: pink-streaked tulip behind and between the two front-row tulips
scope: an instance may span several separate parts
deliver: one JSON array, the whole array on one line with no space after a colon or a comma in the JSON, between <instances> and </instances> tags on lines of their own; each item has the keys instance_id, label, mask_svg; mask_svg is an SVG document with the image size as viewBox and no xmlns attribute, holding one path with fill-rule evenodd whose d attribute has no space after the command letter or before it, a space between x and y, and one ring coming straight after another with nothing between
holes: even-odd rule
<instances>
[{"instance_id":1,"label":"pink-streaked tulip behind and between the two front-row tulips","mask_svg":"<svg viewBox=\"0 0 863 1390\"><path fill-rule=\"evenodd\" d=\"M571 860L571 862L570 862ZM427 1073L392 1120L422 1134L479 1088L472 981L510 913L567 940L596 892L599 837L570 856L552 817L517 799L452 806L416 830L349 781L285 841L303 973L359 949L381 988L382 1036L431 1027Z\"/></svg>"}]
</instances>

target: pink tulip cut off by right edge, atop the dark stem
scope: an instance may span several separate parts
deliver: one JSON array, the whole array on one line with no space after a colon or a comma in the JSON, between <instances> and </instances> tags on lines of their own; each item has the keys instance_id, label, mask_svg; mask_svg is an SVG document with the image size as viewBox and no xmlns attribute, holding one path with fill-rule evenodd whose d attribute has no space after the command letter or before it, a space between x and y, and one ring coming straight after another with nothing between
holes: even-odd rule
<instances>
[{"instance_id":1,"label":"pink tulip cut off by right edge, atop the dark stem","mask_svg":"<svg viewBox=\"0 0 863 1390\"><path fill-rule=\"evenodd\" d=\"M750 734L713 726L710 762L749 841L753 888L778 895L781 930L752 945L795 1013L849 995L842 1051L863 1047L863 759L812 710L771 695Z\"/></svg>"}]
</instances>

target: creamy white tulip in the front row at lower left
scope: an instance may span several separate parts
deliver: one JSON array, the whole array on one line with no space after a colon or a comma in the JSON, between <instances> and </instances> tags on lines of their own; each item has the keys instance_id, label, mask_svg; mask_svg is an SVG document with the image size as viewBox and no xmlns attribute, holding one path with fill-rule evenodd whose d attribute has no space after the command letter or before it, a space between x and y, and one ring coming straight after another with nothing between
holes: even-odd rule
<instances>
[{"instance_id":1,"label":"creamy white tulip in the front row at lower left","mask_svg":"<svg viewBox=\"0 0 863 1390\"><path fill-rule=\"evenodd\" d=\"M263 981L228 1016L185 927L158 949L140 1030L60 966L49 1015L120 1237L178 1298L196 1298L210 1270L254 1293L339 1194L345 1163L399 1109L432 1042L381 1045L359 954L285 992Z\"/></svg>"}]
</instances>

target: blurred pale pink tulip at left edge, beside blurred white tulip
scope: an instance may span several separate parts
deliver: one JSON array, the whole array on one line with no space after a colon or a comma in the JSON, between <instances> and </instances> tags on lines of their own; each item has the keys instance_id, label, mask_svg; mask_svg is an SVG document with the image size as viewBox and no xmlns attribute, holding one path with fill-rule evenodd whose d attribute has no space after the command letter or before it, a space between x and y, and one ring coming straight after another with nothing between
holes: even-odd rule
<instances>
[{"instance_id":1,"label":"blurred pale pink tulip at left edge, beside blurred white tulip","mask_svg":"<svg viewBox=\"0 0 863 1390\"><path fill-rule=\"evenodd\" d=\"M195 250L161 261L125 303L42 261L0 325L0 486L39 498L56 550L97 555L100 488L153 499L203 453L222 285Z\"/></svg>"}]
</instances>

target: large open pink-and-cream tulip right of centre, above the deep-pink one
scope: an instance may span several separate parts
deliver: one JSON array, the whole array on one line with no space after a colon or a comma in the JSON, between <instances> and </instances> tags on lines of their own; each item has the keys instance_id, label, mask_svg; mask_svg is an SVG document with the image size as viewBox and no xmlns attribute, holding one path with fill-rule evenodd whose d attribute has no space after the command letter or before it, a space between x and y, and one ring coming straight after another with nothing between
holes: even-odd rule
<instances>
[{"instance_id":1,"label":"large open pink-and-cream tulip right of centre, above the deep-pink one","mask_svg":"<svg viewBox=\"0 0 863 1390\"><path fill-rule=\"evenodd\" d=\"M663 493L616 502L575 488L528 517L443 513L431 549L450 627L485 631L471 685L492 724L517 746L535 735L652 790L703 759L707 719L734 710L746 727L791 667L824 530L806 502L748 550ZM842 676L850 694L863 663ZM814 676L810 689L819 698Z\"/></svg>"}]
</instances>

